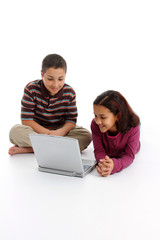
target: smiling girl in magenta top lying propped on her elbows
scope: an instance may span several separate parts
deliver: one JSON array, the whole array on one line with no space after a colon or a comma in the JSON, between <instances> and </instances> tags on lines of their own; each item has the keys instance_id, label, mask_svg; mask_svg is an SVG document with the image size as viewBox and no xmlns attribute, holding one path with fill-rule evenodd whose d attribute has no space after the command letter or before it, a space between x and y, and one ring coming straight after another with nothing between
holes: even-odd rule
<instances>
[{"instance_id":1,"label":"smiling girl in magenta top lying propped on her elbows","mask_svg":"<svg viewBox=\"0 0 160 240\"><path fill-rule=\"evenodd\" d=\"M94 103L91 123L94 153L101 176L128 167L140 150L140 119L117 91L106 91Z\"/></svg>"}]
</instances>

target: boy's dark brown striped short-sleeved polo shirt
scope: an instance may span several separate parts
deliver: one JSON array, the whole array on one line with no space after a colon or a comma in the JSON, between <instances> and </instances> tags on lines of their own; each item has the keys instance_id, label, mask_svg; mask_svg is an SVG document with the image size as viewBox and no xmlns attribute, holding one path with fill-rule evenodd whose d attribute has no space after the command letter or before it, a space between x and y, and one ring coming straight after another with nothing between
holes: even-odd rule
<instances>
[{"instance_id":1,"label":"boy's dark brown striped short-sleeved polo shirt","mask_svg":"<svg viewBox=\"0 0 160 240\"><path fill-rule=\"evenodd\" d=\"M24 88L21 104L21 120L34 120L46 128L66 122L76 124L76 93L66 83L52 96L43 80L32 81Z\"/></svg>"}]
</instances>

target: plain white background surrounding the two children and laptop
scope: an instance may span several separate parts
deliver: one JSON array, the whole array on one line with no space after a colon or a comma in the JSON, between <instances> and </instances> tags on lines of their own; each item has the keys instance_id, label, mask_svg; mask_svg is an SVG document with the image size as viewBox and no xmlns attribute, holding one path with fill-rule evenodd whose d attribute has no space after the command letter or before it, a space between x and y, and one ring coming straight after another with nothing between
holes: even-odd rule
<instances>
[{"instance_id":1,"label":"plain white background surrounding the two children and laptop","mask_svg":"<svg viewBox=\"0 0 160 240\"><path fill-rule=\"evenodd\" d=\"M0 3L2 240L160 239L159 13L155 0ZM8 156L23 88L50 53L67 61L79 125L90 128L93 100L108 89L140 116L142 148L128 169L66 178L39 173L33 154Z\"/></svg>"}]
</instances>

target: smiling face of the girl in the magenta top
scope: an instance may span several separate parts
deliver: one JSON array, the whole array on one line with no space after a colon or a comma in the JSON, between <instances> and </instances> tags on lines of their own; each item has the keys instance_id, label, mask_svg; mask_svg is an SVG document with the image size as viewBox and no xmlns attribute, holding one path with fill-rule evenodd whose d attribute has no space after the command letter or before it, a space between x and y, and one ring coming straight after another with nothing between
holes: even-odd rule
<instances>
[{"instance_id":1,"label":"smiling face of the girl in the magenta top","mask_svg":"<svg viewBox=\"0 0 160 240\"><path fill-rule=\"evenodd\" d=\"M116 132L116 121L118 120L108 108L101 105L93 105L95 122L102 133L106 131Z\"/></svg>"}]
</instances>

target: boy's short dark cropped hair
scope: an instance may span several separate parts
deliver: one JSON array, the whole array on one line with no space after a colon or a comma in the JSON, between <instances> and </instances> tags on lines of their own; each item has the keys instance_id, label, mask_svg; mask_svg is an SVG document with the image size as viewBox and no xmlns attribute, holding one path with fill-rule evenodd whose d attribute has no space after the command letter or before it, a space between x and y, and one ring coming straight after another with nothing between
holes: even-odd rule
<instances>
[{"instance_id":1,"label":"boy's short dark cropped hair","mask_svg":"<svg viewBox=\"0 0 160 240\"><path fill-rule=\"evenodd\" d=\"M49 54L42 61L42 73L44 74L48 68L63 68L65 73L67 72L67 63L58 54Z\"/></svg>"}]
</instances>

